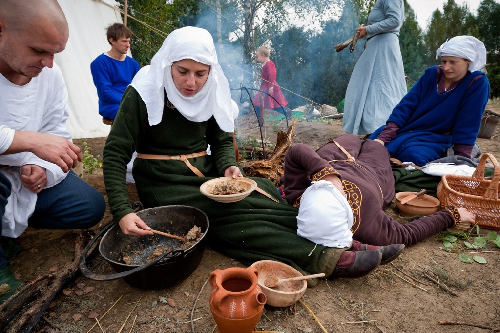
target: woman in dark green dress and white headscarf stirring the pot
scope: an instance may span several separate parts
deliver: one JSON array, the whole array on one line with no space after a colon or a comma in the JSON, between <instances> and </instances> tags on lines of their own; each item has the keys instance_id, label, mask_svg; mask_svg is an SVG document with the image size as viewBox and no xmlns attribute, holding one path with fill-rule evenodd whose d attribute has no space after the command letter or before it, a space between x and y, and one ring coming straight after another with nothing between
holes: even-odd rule
<instances>
[{"instance_id":1,"label":"woman in dark green dress and white headscarf stirring the pot","mask_svg":"<svg viewBox=\"0 0 500 333\"><path fill-rule=\"evenodd\" d=\"M126 165L137 151L132 173L143 206L187 204L202 210L210 220L210 246L226 255L245 264L279 260L303 273L335 278L359 277L376 267L381 250L358 255L346 251L348 241L328 247L297 235L297 208L268 179L253 178L275 200L254 191L243 200L222 203L200 193L208 179L242 175L231 135L233 116L210 33L190 26L172 31L147 73L125 90L104 146L104 183L122 232L152 234L127 195ZM344 252L350 261L335 270Z\"/></svg>"}]
</instances>

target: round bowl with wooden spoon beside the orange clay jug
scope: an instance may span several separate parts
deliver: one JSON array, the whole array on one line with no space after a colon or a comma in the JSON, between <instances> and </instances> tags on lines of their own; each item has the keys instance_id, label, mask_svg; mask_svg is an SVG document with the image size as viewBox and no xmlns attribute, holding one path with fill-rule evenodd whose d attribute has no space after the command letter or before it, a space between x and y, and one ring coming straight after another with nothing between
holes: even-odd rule
<instances>
[{"instance_id":1,"label":"round bowl with wooden spoon beside the orange clay jug","mask_svg":"<svg viewBox=\"0 0 500 333\"><path fill-rule=\"evenodd\" d=\"M276 307L289 306L302 297L307 288L306 280L283 282L274 288L265 286L264 281L268 276L276 275L278 278L302 276L298 270L286 263L260 260L251 265L258 270L257 284L267 298L266 304Z\"/></svg>"}]
</instances>

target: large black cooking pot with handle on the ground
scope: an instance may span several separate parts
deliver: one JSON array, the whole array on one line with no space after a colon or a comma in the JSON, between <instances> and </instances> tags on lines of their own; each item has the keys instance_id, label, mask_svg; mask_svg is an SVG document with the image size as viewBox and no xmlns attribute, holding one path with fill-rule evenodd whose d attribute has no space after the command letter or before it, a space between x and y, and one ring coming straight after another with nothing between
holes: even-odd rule
<instances>
[{"instance_id":1,"label":"large black cooking pot with handle on the ground","mask_svg":"<svg viewBox=\"0 0 500 333\"><path fill-rule=\"evenodd\" d=\"M197 225L203 235L192 246L182 249L182 241L158 234L125 235L114 221L97 233L83 250L79 267L85 277L94 280L123 278L134 287L156 289L181 282L198 267L203 257L209 224L205 213L191 206L166 205L140 210L137 216L158 231L183 236ZM114 274L97 274L86 266L88 249L102 234L99 253L116 271ZM171 249L147 262L158 246ZM123 262L124 255L130 258L128 264Z\"/></svg>"}]
</instances>

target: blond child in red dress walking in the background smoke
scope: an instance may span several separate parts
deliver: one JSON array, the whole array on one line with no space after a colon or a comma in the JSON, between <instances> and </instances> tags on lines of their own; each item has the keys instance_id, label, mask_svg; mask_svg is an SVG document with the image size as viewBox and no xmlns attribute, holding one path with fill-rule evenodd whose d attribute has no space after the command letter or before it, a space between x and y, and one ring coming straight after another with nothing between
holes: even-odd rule
<instances>
[{"instance_id":1,"label":"blond child in red dress walking in the background smoke","mask_svg":"<svg viewBox=\"0 0 500 333\"><path fill-rule=\"evenodd\" d=\"M255 105L257 116L260 116L260 108L271 108L286 115L286 110L284 107L281 109L281 106L285 106L288 102L284 98L278 82L276 82L276 66L274 65L274 62L269 59L269 47L260 46L256 51L256 57L258 62L264 64L260 74L262 79L260 90L265 91L270 95L269 96L260 91L255 94L253 104ZM260 105L261 101L263 101L263 105Z\"/></svg>"}]
</instances>

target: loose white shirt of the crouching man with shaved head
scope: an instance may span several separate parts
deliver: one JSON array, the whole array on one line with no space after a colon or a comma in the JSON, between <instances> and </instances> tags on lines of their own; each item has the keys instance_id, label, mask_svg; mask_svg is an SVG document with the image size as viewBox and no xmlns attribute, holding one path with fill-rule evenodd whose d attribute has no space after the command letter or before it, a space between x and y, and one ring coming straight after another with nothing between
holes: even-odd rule
<instances>
[{"instance_id":1,"label":"loose white shirt of the crouching man with shaved head","mask_svg":"<svg viewBox=\"0 0 500 333\"><path fill-rule=\"evenodd\" d=\"M67 90L59 67L44 68L38 76L23 85L15 85L0 74L0 123L13 130L45 132L71 140L66 128L68 117ZM2 129L3 132L4 129ZM2 134L3 135L3 134ZM19 168L25 164L36 164L45 168L45 188L62 181L64 173L54 163L38 158L31 152L20 152L0 156L1 168L12 183L2 218L2 235L17 237L27 227L36 204L36 194L20 184Z\"/></svg>"}]
</instances>

